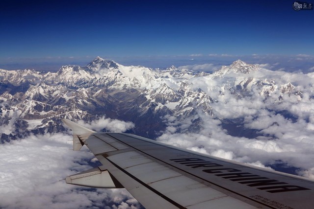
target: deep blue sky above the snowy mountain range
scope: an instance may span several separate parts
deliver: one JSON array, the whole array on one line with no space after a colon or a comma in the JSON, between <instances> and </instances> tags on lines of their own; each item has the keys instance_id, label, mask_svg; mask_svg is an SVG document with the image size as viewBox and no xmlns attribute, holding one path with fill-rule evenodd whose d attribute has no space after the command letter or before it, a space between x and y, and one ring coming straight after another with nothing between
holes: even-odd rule
<instances>
[{"instance_id":1,"label":"deep blue sky above the snowy mountain range","mask_svg":"<svg viewBox=\"0 0 314 209\"><path fill-rule=\"evenodd\" d=\"M38 70L96 56L148 67L252 54L306 54L313 63L314 11L296 12L292 2L2 0L0 68Z\"/></svg>"}]
</instances>

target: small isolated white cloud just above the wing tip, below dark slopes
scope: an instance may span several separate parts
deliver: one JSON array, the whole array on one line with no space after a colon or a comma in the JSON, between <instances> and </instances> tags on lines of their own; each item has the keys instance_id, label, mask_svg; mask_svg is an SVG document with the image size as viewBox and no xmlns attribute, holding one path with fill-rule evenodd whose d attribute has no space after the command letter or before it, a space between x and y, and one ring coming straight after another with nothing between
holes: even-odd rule
<instances>
[{"instance_id":1,"label":"small isolated white cloud just above the wing tip, below dark slopes","mask_svg":"<svg viewBox=\"0 0 314 209\"><path fill-rule=\"evenodd\" d=\"M122 133L135 127L134 123L132 122L125 122L118 119L105 118L105 116L97 120L93 120L91 123L86 123L83 120L79 120L78 124L98 132L100 132L103 129L107 129L109 132Z\"/></svg>"}]
</instances>

